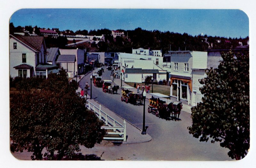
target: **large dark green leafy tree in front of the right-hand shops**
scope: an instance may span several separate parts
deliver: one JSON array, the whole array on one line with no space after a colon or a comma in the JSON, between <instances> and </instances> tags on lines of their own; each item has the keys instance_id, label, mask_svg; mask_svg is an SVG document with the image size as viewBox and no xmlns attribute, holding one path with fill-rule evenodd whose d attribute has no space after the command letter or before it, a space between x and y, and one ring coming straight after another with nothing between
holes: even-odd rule
<instances>
[{"instance_id":1,"label":"large dark green leafy tree in front of the right-hand shops","mask_svg":"<svg viewBox=\"0 0 256 168\"><path fill-rule=\"evenodd\" d=\"M249 54L222 54L217 69L206 69L202 102L192 107L189 133L200 141L220 142L228 156L244 158L250 147Z\"/></svg>"}]
</instances>

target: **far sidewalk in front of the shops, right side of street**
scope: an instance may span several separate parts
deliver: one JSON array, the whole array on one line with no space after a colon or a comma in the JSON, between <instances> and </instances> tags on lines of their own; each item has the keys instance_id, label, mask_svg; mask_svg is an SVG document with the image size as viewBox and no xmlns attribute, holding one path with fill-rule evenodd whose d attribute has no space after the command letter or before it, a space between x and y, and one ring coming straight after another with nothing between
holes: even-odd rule
<instances>
[{"instance_id":1,"label":"far sidewalk in front of the shops, right side of street","mask_svg":"<svg viewBox=\"0 0 256 168\"><path fill-rule=\"evenodd\" d=\"M114 83L116 85L121 86L121 79L120 78L115 79ZM124 83L124 81L122 81L122 86L130 86L130 85L128 85L128 84ZM137 93L137 89L136 88L128 89L128 90L133 91L134 93ZM140 90L140 93L141 93L141 90ZM152 97L152 94L150 94L150 93L146 94L146 99L150 99L151 97ZM156 96L154 96L154 97L156 97ZM171 102L173 102L174 104L178 104L179 103L178 101L173 101L173 100L170 100L170 99L167 99L167 98L160 98L160 99L163 100L163 101L166 101L167 103L171 103ZM183 103L182 103L182 105L183 105L183 108L182 108L181 111L191 114L191 106L183 104Z\"/></svg>"}]
</instances>

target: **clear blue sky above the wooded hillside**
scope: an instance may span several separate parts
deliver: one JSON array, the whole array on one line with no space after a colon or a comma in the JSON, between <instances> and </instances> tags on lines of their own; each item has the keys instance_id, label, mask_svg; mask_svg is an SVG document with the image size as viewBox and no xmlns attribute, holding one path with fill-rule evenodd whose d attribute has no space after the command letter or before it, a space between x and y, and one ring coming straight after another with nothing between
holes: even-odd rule
<instances>
[{"instance_id":1,"label":"clear blue sky above the wooded hillside","mask_svg":"<svg viewBox=\"0 0 256 168\"><path fill-rule=\"evenodd\" d=\"M21 9L10 22L14 26L38 26L60 30L146 30L207 34L222 37L249 36L249 19L240 10L170 9Z\"/></svg>"}]
</instances>

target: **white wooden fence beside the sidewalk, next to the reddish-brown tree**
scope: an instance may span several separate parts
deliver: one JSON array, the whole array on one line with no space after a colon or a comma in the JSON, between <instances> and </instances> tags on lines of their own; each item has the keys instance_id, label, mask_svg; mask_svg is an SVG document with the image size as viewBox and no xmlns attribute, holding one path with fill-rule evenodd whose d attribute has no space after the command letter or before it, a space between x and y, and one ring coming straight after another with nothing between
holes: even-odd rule
<instances>
[{"instance_id":1,"label":"white wooden fence beside the sidewalk, next to the reddish-brown tree","mask_svg":"<svg viewBox=\"0 0 256 168\"><path fill-rule=\"evenodd\" d=\"M101 128L107 129L107 135L103 137L106 140L123 140L126 141L126 121L124 120L123 125L120 124L118 121L113 119L107 113L101 110L101 105L99 107L95 106L91 102L87 101L86 107L89 110L92 110L94 113L97 114L100 120L105 122L106 126L102 126ZM112 130L112 131L111 131ZM108 137L108 135L120 135L120 137Z\"/></svg>"}]
</instances>

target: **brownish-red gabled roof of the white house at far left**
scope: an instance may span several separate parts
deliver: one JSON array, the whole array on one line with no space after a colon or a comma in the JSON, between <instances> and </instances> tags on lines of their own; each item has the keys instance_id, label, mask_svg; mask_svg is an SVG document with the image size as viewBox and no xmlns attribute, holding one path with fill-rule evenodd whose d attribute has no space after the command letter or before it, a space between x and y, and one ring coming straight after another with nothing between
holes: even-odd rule
<instances>
[{"instance_id":1,"label":"brownish-red gabled roof of the white house at far left","mask_svg":"<svg viewBox=\"0 0 256 168\"><path fill-rule=\"evenodd\" d=\"M40 52L42 44L45 46L44 37L42 36L19 36L19 35L10 35L12 38L15 38L30 47L34 51Z\"/></svg>"}]
</instances>

